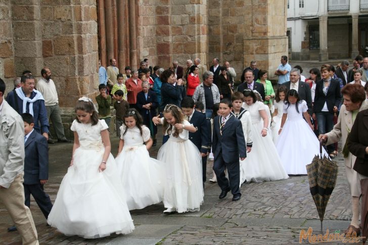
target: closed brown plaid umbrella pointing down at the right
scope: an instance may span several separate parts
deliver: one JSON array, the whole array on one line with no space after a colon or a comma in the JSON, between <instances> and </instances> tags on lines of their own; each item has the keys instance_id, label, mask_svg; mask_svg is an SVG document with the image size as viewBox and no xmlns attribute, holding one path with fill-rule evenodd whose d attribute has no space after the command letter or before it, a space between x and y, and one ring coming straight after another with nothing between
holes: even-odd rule
<instances>
[{"instance_id":1,"label":"closed brown plaid umbrella pointing down at the right","mask_svg":"<svg viewBox=\"0 0 368 245\"><path fill-rule=\"evenodd\" d=\"M323 231L323 220L327 203L336 185L338 166L336 162L322 157L322 144L319 144L320 157L317 155L312 162L306 166L309 190L312 194L314 204L317 208L320 229Z\"/></svg>"}]
</instances>

